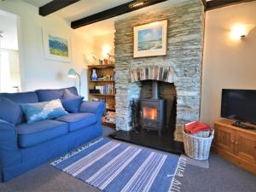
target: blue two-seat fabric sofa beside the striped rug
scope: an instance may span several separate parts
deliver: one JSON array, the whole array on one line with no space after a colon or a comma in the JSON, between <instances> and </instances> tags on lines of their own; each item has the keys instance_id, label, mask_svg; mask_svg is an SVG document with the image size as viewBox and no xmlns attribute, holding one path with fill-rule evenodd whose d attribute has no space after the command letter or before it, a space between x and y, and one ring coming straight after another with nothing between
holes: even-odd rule
<instances>
[{"instance_id":1,"label":"blue two-seat fabric sofa beside the striped rug","mask_svg":"<svg viewBox=\"0 0 256 192\"><path fill-rule=\"evenodd\" d=\"M78 96L75 87L67 88ZM15 103L46 102L61 98L65 89L36 90L24 93L1 93ZM1 108L1 106L0 106ZM18 125L0 119L0 171L6 182L23 172L102 136L103 102L82 102L79 113L68 113L56 119ZM12 115L11 113L9 115Z\"/></svg>"}]
</instances>

